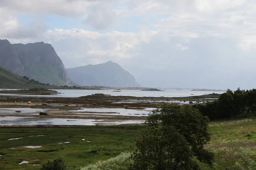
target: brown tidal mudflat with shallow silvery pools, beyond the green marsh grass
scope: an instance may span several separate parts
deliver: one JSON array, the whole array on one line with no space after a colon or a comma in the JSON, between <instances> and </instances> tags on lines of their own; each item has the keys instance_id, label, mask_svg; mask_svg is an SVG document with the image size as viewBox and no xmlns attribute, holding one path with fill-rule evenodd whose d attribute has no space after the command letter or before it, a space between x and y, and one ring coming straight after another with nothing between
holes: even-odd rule
<instances>
[{"instance_id":1,"label":"brown tidal mudflat with shallow silvery pools, beyond the green marsh grass","mask_svg":"<svg viewBox=\"0 0 256 170\"><path fill-rule=\"evenodd\" d=\"M177 100L104 94L81 97L0 96L0 126L136 124L145 122L147 115L163 104L207 102L207 97L209 95Z\"/></svg>"}]
</instances>

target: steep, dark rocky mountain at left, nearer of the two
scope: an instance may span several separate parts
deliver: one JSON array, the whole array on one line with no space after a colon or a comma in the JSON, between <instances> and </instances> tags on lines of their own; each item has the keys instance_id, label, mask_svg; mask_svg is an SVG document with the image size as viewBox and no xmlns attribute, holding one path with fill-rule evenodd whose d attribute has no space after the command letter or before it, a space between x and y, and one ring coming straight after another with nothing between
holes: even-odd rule
<instances>
[{"instance_id":1,"label":"steep, dark rocky mountain at left, nearer of the two","mask_svg":"<svg viewBox=\"0 0 256 170\"><path fill-rule=\"evenodd\" d=\"M0 40L0 65L29 79L54 85L76 85L52 45L44 42L11 44Z\"/></svg>"}]
</instances>

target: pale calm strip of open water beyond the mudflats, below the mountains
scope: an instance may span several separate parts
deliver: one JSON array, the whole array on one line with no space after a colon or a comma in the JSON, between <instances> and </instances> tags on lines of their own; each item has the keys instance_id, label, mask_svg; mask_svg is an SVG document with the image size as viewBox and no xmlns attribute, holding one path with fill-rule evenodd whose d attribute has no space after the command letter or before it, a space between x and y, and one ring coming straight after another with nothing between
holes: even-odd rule
<instances>
[{"instance_id":1,"label":"pale calm strip of open water beyond the mudflats, below the mountains","mask_svg":"<svg viewBox=\"0 0 256 170\"><path fill-rule=\"evenodd\" d=\"M3 90L3 89L0 89ZM224 91L191 91L191 90L173 90L173 89L162 89L164 91L140 91L140 90L121 90L121 92L113 92L114 90L73 90L73 89L59 89L55 91L60 92L61 94L54 95L21 95L21 94L1 94L3 96L45 96L45 97L80 97L87 96L96 93L109 94L112 96L136 96L136 97L184 97L184 96L199 96L203 94L222 94ZM193 94L193 95L192 95Z\"/></svg>"}]
</instances>

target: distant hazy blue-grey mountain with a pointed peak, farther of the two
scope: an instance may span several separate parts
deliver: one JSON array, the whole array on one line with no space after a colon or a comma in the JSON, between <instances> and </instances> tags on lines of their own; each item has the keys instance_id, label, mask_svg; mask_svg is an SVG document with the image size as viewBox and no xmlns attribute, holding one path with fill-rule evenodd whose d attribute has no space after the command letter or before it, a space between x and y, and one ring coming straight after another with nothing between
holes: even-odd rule
<instances>
[{"instance_id":1,"label":"distant hazy blue-grey mountain with a pointed peak, farther of the two","mask_svg":"<svg viewBox=\"0 0 256 170\"><path fill-rule=\"evenodd\" d=\"M108 87L140 87L134 77L115 62L67 68L71 79L79 85Z\"/></svg>"}]
</instances>

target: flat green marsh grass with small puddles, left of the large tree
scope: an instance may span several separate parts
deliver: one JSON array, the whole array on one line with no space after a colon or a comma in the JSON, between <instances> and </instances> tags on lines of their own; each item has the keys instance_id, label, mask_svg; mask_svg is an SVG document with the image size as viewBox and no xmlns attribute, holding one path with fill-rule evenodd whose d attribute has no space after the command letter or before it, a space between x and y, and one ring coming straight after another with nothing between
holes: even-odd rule
<instances>
[{"instance_id":1,"label":"flat green marsh grass with small puddles, left of the large tree","mask_svg":"<svg viewBox=\"0 0 256 170\"><path fill-rule=\"evenodd\" d=\"M142 126L0 127L0 170L35 170L21 161L41 164L59 155L77 170L134 149L134 137ZM46 136L37 136L46 135ZM33 136L33 137L29 137ZM7 140L13 138L23 139ZM81 139L85 139L84 141ZM87 142L90 141L90 142ZM70 142L58 144L58 142ZM42 146L29 149L23 146ZM16 148L16 149L10 149ZM36 161L35 161L36 160Z\"/></svg>"}]
</instances>

